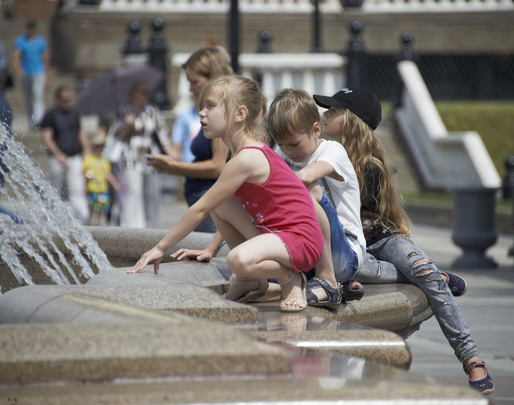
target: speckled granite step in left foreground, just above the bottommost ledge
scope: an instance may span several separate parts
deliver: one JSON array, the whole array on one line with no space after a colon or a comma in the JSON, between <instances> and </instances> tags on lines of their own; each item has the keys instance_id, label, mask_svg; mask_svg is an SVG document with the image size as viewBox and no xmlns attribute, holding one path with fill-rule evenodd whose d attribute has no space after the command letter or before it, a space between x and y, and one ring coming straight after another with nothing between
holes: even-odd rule
<instances>
[{"instance_id":1,"label":"speckled granite step in left foreground, just above the bottommost ledge","mask_svg":"<svg viewBox=\"0 0 514 405\"><path fill-rule=\"evenodd\" d=\"M282 375L291 359L234 328L176 315L129 324L0 325L3 384ZM23 349L20 349L22 348Z\"/></svg>"}]
</instances>

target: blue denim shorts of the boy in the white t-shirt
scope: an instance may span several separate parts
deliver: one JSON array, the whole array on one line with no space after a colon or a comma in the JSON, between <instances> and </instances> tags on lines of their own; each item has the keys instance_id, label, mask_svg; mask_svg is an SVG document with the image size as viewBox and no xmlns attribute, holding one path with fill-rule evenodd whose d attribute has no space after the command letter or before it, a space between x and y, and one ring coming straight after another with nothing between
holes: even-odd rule
<instances>
[{"instance_id":1,"label":"blue denim shorts of the boy in the white t-shirt","mask_svg":"<svg viewBox=\"0 0 514 405\"><path fill-rule=\"evenodd\" d=\"M332 250L332 263L334 264L334 273L336 280L344 284L352 280L359 269L359 259L357 253L348 243L344 233L343 225L339 221L336 210L332 206L330 200L323 194L320 206L330 223L330 247Z\"/></svg>"}]
</instances>

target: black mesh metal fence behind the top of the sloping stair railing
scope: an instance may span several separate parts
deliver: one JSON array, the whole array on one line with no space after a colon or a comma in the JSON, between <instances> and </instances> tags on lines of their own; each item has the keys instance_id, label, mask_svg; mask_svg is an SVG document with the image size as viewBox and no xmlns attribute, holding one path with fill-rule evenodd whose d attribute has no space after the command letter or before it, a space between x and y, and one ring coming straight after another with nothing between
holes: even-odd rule
<instances>
[{"instance_id":1,"label":"black mesh metal fence behind the top of the sloping stair railing","mask_svg":"<svg viewBox=\"0 0 514 405\"><path fill-rule=\"evenodd\" d=\"M410 40L410 35L404 36L401 54L370 53L363 50L354 29L346 52L348 85L369 88L382 100L395 100L400 89L396 63L411 59L434 100L514 99L514 53L413 54Z\"/></svg>"}]
</instances>

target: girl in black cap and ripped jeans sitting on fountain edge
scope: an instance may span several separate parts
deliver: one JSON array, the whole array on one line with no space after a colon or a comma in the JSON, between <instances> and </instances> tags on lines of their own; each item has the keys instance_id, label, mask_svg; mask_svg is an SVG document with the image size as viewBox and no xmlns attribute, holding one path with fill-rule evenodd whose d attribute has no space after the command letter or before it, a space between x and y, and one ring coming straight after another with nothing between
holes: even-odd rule
<instances>
[{"instance_id":1,"label":"girl in black cap and ripped jeans sitting on fountain edge","mask_svg":"<svg viewBox=\"0 0 514 405\"><path fill-rule=\"evenodd\" d=\"M479 357L454 296L466 292L466 282L442 273L409 237L410 220L403 206L392 164L373 133L381 120L377 97L360 87L344 88L334 96L314 96L328 110L323 132L341 142L354 165L361 193L361 220L366 255L355 280L361 283L412 283L428 298L455 356L463 363L469 385L482 394L494 385Z\"/></svg>"}]
</instances>

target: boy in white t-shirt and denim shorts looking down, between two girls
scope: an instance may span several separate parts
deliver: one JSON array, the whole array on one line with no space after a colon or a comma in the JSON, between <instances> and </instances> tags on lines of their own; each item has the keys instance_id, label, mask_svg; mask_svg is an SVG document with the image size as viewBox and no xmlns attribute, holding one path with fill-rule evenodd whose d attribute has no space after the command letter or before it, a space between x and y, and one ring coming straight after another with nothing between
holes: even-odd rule
<instances>
[{"instance_id":1,"label":"boy in white t-shirt and denim shorts looking down, between two girls","mask_svg":"<svg viewBox=\"0 0 514 405\"><path fill-rule=\"evenodd\" d=\"M276 152L318 202L315 207L325 250L316 266L316 276L309 281L307 303L334 309L341 298L362 297L362 286L352 283L350 289L350 282L366 245L355 170L339 142L319 139L319 120L318 107L306 91L284 89L271 103L267 124L277 142Z\"/></svg>"}]
</instances>

